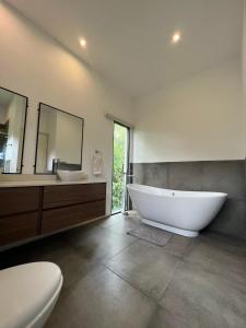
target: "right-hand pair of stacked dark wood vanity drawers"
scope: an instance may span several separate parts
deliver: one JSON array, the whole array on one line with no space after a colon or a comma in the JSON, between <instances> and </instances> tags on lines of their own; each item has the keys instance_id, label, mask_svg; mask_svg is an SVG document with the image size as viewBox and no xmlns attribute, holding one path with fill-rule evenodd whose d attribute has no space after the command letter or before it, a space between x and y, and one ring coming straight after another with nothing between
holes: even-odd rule
<instances>
[{"instance_id":1,"label":"right-hand pair of stacked dark wood vanity drawers","mask_svg":"<svg viewBox=\"0 0 246 328\"><path fill-rule=\"evenodd\" d=\"M106 184L44 187L42 234L105 215Z\"/></svg>"}]
</instances>

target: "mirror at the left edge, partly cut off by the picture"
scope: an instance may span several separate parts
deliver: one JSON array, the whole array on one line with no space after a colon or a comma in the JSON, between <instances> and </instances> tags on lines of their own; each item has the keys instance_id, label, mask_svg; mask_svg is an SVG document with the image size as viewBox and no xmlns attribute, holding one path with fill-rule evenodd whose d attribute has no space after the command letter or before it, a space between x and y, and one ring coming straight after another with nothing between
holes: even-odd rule
<instances>
[{"instance_id":1,"label":"mirror at the left edge, partly cut off by the picture","mask_svg":"<svg viewBox=\"0 0 246 328\"><path fill-rule=\"evenodd\" d=\"M27 98L0 87L0 173L21 173Z\"/></svg>"}]
</instances>

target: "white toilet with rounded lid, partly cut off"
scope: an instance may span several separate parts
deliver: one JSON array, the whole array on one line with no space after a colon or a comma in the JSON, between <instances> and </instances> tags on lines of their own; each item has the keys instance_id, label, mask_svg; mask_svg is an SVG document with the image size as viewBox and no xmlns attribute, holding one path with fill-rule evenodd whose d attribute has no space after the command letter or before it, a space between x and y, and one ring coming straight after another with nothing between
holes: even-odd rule
<instances>
[{"instance_id":1,"label":"white toilet with rounded lid, partly cut off","mask_svg":"<svg viewBox=\"0 0 246 328\"><path fill-rule=\"evenodd\" d=\"M43 327L58 300L62 282L60 268L51 262L1 270L0 327Z\"/></svg>"}]
</instances>

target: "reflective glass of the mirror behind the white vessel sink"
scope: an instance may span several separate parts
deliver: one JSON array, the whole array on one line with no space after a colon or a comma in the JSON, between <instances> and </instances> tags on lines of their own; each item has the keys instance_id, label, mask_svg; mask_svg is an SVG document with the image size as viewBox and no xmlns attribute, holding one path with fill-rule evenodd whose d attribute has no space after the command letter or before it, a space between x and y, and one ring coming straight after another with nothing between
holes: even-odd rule
<instances>
[{"instance_id":1,"label":"reflective glass of the mirror behind the white vessel sink","mask_svg":"<svg viewBox=\"0 0 246 328\"><path fill-rule=\"evenodd\" d=\"M81 169L83 118L39 104L35 173Z\"/></svg>"}]
</instances>

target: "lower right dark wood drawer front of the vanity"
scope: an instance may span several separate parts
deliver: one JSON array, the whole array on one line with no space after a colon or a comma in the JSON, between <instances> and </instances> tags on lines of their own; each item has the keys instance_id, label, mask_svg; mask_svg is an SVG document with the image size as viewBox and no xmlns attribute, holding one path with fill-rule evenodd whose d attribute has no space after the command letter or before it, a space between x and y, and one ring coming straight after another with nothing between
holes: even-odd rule
<instances>
[{"instance_id":1,"label":"lower right dark wood drawer front of the vanity","mask_svg":"<svg viewBox=\"0 0 246 328\"><path fill-rule=\"evenodd\" d=\"M105 200L43 212L42 234L105 215Z\"/></svg>"}]
</instances>

